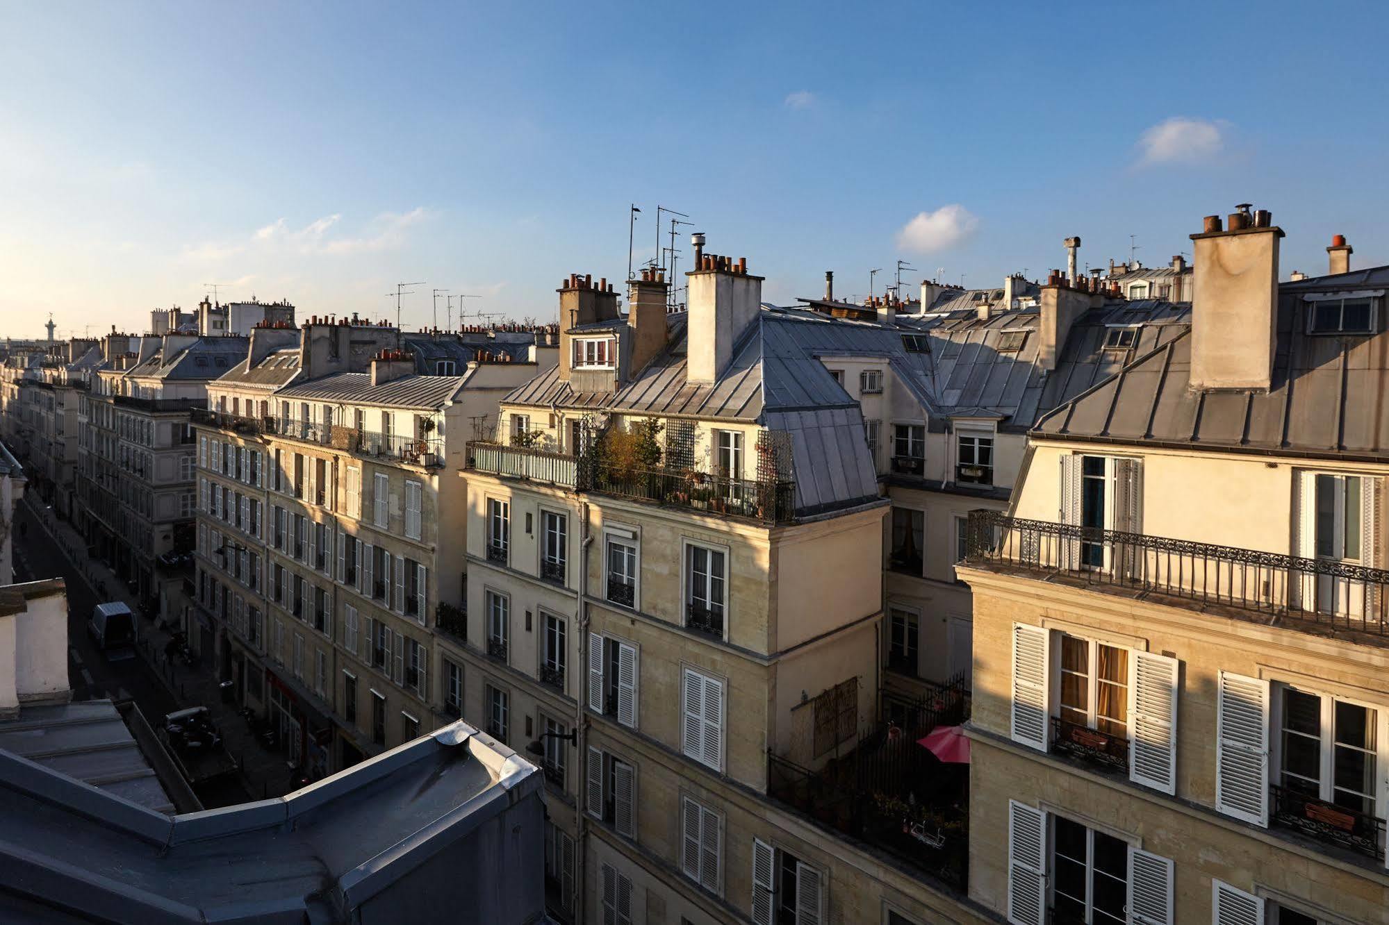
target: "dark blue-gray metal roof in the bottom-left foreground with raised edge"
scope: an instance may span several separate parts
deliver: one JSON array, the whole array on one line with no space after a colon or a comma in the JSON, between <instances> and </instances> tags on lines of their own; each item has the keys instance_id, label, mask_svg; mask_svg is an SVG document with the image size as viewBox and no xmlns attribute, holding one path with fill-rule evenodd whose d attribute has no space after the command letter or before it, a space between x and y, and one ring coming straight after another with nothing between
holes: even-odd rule
<instances>
[{"instance_id":1,"label":"dark blue-gray metal roof in the bottom-left foreground with raised edge","mask_svg":"<svg viewBox=\"0 0 1389 925\"><path fill-rule=\"evenodd\" d=\"M285 797L176 817L3 750L0 792L0 918L7 897L149 925L543 914L540 775L464 722Z\"/></svg>"}]
</instances>

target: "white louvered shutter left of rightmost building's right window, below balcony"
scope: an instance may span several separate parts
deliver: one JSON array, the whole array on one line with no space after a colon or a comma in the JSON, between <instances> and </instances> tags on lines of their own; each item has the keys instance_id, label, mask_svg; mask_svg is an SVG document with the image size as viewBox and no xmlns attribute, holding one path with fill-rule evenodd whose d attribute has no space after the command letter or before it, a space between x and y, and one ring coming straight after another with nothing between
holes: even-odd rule
<instances>
[{"instance_id":1,"label":"white louvered shutter left of rightmost building's right window, below balcony","mask_svg":"<svg viewBox=\"0 0 1389 925\"><path fill-rule=\"evenodd\" d=\"M1215 706L1215 808L1268 825L1268 682L1220 672Z\"/></svg>"}]
</instances>

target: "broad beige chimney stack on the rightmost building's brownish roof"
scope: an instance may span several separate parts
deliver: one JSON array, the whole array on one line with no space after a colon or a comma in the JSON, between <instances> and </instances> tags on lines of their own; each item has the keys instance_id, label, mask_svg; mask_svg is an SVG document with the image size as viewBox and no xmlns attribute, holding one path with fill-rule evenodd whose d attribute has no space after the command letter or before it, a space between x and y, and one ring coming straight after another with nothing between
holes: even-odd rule
<instances>
[{"instance_id":1,"label":"broad beige chimney stack on the rightmost building's brownish roof","mask_svg":"<svg viewBox=\"0 0 1389 925\"><path fill-rule=\"evenodd\" d=\"M1207 215L1192 235L1193 389L1261 389L1272 385L1278 338L1278 242L1283 231L1247 206ZM1260 221L1263 224L1260 224Z\"/></svg>"}]
</instances>

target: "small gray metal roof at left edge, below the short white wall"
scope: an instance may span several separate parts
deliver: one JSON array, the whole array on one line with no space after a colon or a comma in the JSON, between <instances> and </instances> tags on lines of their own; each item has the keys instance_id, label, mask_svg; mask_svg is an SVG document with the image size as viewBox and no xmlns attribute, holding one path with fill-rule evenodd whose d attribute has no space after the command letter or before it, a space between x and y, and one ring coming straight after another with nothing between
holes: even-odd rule
<instances>
[{"instance_id":1,"label":"small gray metal roof at left edge, below the short white wall","mask_svg":"<svg viewBox=\"0 0 1389 925\"><path fill-rule=\"evenodd\" d=\"M110 700L24 707L0 722L0 750L156 812L174 801Z\"/></svg>"}]
</instances>

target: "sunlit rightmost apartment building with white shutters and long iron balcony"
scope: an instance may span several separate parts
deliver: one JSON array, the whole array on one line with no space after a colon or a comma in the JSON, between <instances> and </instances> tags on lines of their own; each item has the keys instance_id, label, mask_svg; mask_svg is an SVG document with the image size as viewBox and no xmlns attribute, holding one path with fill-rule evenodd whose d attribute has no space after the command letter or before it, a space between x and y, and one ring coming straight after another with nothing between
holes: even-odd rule
<instances>
[{"instance_id":1,"label":"sunlit rightmost apartment building with white shutters and long iron balcony","mask_svg":"<svg viewBox=\"0 0 1389 925\"><path fill-rule=\"evenodd\" d=\"M1389 921L1389 268L1279 285L1282 238L1208 217L1192 329L971 515L970 896L1011 922Z\"/></svg>"}]
</instances>

